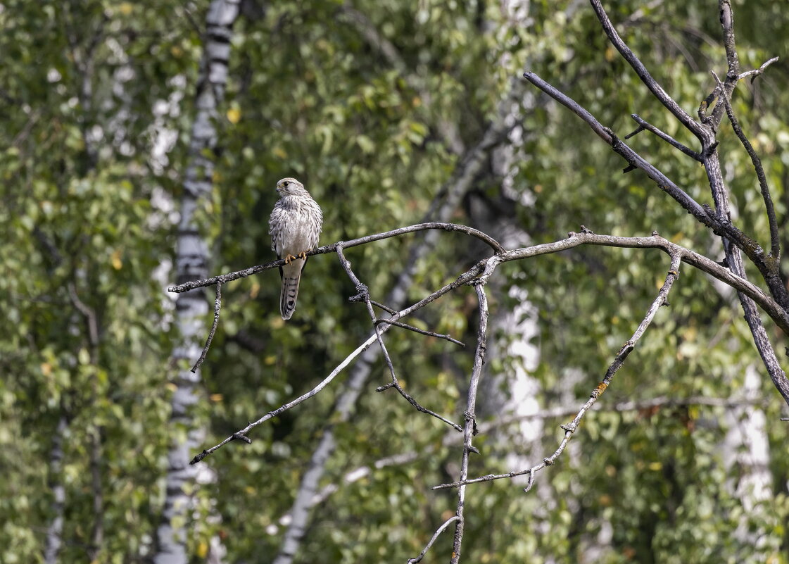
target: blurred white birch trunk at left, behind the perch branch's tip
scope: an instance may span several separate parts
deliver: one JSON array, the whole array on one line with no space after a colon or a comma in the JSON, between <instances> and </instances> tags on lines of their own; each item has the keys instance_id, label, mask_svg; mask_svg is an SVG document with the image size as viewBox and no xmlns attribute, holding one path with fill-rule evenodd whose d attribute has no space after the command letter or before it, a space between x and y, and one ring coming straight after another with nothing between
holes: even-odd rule
<instances>
[{"instance_id":1,"label":"blurred white birch trunk at left, behind the perch branch's tip","mask_svg":"<svg viewBox=\"0 0 789 564\"><path fill-rule=\"evenodd\" d=\"M197 113L192 126L189 160L181 198L181 219L178 225L178 249L175 267L178 282L208 275L208 245L200 235L195 211L211 194L214 164L204 155L216 145L217 106L221 102L228 74L231 28L236 21L240 0L214 0L206 17L206 34L200 77L196 92ZM176 304L176 319L181 344L173 351L174 360L184 366L200 357L200 340L208 327L205 316L208 302L201 293L182 293ZM185 429L185 437L176 439L167 455L166 494L162 522L156 530L155 564L185 564L186 531L192 499L186 486L196 484L198 466L190 466L190 453L202 443L204 430L194 419L193 405L199 400L200 371L182 368L175 379L171 424ZM178 432L174 432L179 436Z\"/></svg>"}]
</instances>

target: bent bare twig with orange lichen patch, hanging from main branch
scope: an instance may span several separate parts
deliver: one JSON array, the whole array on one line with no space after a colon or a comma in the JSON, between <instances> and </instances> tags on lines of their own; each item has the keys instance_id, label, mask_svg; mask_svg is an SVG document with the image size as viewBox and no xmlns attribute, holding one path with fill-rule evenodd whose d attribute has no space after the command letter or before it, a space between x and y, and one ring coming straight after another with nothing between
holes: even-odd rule
<instances>
[{"instance_id":1,"label":"bent bare twig with orange lichen patch, hanging from main branch","mask_svg":"<svg viewBox=\"0 0 789 564\"><path fill-rule=\"evenodd\" d=\"M578 410L578 413L574 417L574 419L567 425L561 425L561 428L564 431L564 436L559 443L559 447L554 451L554 453L549 456L548 458L543 458L543 461L540 464L534 465L529 469L519 470L517 472L507 472L506 474L488 474L487 476L480 476L478 478L473 478L471 480L462 479L458 480L457 482L453 482L451 484L439 484L438 486L433 486L433 490L441 490L446 489L448 487L458 487L462 488L466 486L466 484L477 484L478 482L490 482L492 480L502 480L504 478L514 478L515 476L523 476L524 474L529 474L529 484L526 487L525 491L529 491L533 485L533 476L536 472L540 472L540 470L544 469L546 466L552 465L559 456L564 452L567 448L567 444L570 443L570 439L572 438L574 432L578 429L578 424L583 419L583 416L589 409L594 405L597 401L597 398L603 394L603 392L608 388L611 384L611 379L613 379L615 373L622 368L626 358L630 355L630 353L635 348L635 345L641 339L643 334L645 333L649 324L652 323L653 319L660 309L661 306L666 304L667 296L669 291L671 290L671 286L674 285L674 282L677 278L679 278L679 264L682 262L682 252L679 248L673 248L671 250L671 266L669 267L668 273L666 275L666 280L661 286L660 291L657 293L657 297L652 302L652 305L649 306L649 310L646 312L644 319L641 320L636 331L634 332L633 336L623 345L621 349L619 349L619 353L616 354L613 362L608 366L608 370L605 373L603 380L597 387L592 391L592 394L589 396L589 399L585 402L584 405L581 406L581 409Z\"/></svg>"}]
</instances>

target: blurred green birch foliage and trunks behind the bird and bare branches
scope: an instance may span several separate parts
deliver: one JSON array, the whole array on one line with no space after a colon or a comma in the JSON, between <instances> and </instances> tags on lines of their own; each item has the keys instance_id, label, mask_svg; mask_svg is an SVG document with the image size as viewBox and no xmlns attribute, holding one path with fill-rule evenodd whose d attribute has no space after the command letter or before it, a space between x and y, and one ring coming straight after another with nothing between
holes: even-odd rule
<instances>
[{"instance_id":1,"label":"blurred green birch foliage and trunks behind the bird and bare branches","mask_svg":"<svg viewBox=\"0 0 789 564\"><path fill-rule=\"evenodd\" d=\"M781 57L732 103L783 227L789 18L782 2L732 3L742 69ZM709 71L726 72L717 2L605 4L694 114ZM430 487L458 475L458 437L376 393L389 376L374 348L251 445L186 465L314 387L371 331L337 257L315 256L287 323L275 271L223 287L219 330L189 372L214 293L176 301L166 288L273 260L279 178L323 207L321 244L438 219L507 248L583 224L723 256L520 78L539 74L619 136L638 113L696 148L585 2L0 0L0 29L0 562L405 562L454 514L456 492ZM628 144L711 203L696 162L649 133ZM720 154L736 221L765 244L756 177L725 118ZM346 256L397 308L488 250L416 233ZM657 251L575 248L499 267L472 475L555 450L667 266ZM669 301L532 491L468 487L465 562L789 562L787 408L736 295L685 267ZM406 390L462 420L473 289L412 322L467 343L387 336ZM451 538L425 562L446 561Z\"/></svg>"}]
</instances>

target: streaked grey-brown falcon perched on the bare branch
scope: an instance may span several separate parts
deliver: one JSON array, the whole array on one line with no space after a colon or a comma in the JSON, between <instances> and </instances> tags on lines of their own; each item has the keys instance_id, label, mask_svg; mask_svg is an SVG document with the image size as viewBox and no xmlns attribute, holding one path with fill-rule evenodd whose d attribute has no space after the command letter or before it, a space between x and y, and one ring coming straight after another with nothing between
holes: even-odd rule
<instances>
[{"instance_id":1,"label":"streaked grey-brown falcon perched on the bare branch","mask_svg":"<svg viewBox=\"0 0 789 564\"><path fill-rule=\"evenodd\" d=\"M278 259L285 259L279 267L282 292L279 295L279 312L282 319L290 319L296 309L298 282L301 269L307 263L307 252L318 246L323 212L304 185L295 178L282 178L277 182L279 200L268 219L271 250Z\"/></svg>"}]
</instances>

